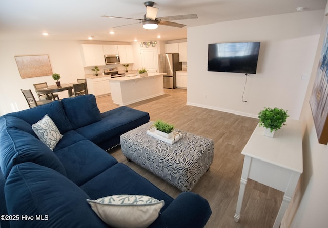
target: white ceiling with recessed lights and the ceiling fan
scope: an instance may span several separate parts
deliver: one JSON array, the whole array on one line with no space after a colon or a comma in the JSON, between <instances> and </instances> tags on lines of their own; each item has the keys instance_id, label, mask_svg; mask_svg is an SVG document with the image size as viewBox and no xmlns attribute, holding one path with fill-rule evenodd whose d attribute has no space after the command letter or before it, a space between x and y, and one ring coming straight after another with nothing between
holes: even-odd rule
<instances>
[{"instance_id":1,"label":"white ceiling with recessed lights and the ceiling fan","mask_svg":"<svg viewBox=\"0 0 328 228\"><path fill-rule=\"evenodd\" d=\"M1 0L0 40L88 40L132 42L134 39L178 40L187 28L216 22L324 9L327 0L155 0L157 17L197 14L198 19L177 20L186 27L159 25L145 30L136 20L101 15L144 18L144 0ZM114 28L115 26L128 25ZM109 34L110 31L115 34ZM42 36L48 32L49 36Z\"/></svg>"}]
</instances>

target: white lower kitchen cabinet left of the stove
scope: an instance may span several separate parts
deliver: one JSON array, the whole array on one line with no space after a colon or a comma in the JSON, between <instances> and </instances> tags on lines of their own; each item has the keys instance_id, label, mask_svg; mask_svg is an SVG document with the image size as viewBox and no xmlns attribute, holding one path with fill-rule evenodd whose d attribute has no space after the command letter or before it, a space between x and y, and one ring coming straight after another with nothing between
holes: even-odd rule
<instances>
[{"instance_id":1,"label":"white lower kitchen cabinet left of the stove","mask_svg":"<svg viewBox=\"0 0 328 228\"><path fill-rule=\"evenodd\" d=\"M111 77L87 78L88 93L102 97L111 93L108 79Z\"/></svg>"}]
</instances>

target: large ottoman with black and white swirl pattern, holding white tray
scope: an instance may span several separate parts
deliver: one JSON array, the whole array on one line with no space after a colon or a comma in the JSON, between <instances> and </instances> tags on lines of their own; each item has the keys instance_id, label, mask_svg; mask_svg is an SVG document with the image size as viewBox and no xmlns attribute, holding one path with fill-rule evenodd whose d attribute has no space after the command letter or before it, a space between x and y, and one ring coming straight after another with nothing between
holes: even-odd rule
<instances>
[{"instance_id":1,"label":"large ottoman with black and white swirl pattern, holding white tray","mask_svg":"<svg viewBox=\"0 0 328 228\"><path fill-rule=\"evenodd\" d=\"M146 123L120 136L124 156L182 192L190 191L212 164L214 141L174 129L182 138L171 145L148 135L151 125Z\"/></svg>"}]
</instances>

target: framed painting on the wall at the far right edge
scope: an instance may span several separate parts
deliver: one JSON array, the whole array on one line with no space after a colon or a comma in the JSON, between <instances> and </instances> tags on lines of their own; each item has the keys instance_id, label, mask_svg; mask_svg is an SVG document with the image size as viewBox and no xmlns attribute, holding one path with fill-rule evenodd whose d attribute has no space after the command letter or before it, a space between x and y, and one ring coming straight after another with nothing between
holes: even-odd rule
<instances>
[{"instance_id":1,"label":"framed painting on the wall at the far right edge","mask_svg":"<svg viewBox=\"0 0 328 228\"><path fill-rule=\"evenodd\" d=\"M314 125L321 144L328 143L328 34L325 34L316 79L310 97Z\"/></svg>"}]
</instances>

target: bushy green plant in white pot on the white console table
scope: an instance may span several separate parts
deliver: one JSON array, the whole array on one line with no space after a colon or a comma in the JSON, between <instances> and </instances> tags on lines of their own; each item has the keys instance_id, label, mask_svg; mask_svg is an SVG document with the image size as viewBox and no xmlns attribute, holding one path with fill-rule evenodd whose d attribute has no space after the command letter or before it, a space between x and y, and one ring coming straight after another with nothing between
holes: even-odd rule
<instances>
[{"instance_id":1,"label":"bushy green plant in white pot on the white console table","mask_svg":"<svg viewBox=\"0 0 328 228\"><path fill-rule=\"evenodd\" d=\"M280 108L264 108L258 113L259 126L264 127L264 135L273 137L275 131L286 125L288 111Z\"/></svg>"}]
</instances>

